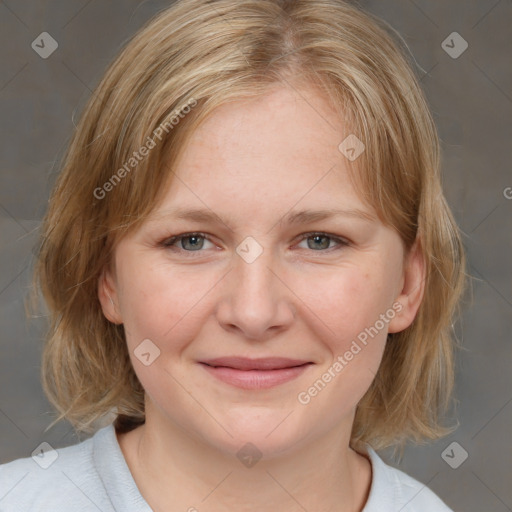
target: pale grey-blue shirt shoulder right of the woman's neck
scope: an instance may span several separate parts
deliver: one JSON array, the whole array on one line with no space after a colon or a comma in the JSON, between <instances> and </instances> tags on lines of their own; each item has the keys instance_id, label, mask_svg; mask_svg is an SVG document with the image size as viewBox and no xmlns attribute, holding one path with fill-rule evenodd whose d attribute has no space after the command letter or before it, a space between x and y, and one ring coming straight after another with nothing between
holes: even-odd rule
<instances>
[{"instance_id":1,"label":"pale grey-blue shirt shoulder right of the woman's neck","mask_svg":"<svg viewBox=\"0 0 512 512\"><path fill-rule=\"evenodd\" d=\"M386 464L368 445L372 485L363 512L453 512L425 484Z\"/></svg>"}]
</instances>

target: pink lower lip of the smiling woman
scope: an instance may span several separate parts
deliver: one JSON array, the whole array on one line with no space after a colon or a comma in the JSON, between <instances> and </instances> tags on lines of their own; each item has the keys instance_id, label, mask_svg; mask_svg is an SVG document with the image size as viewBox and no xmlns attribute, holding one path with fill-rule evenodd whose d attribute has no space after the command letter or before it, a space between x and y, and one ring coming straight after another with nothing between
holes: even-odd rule
<instances>
[{"instance_id":1,"label":"pink lower lip of the smiling woman","mask_svg":"<svg viewBox=\"0 0 512 512\"><path fill-rule=\"evenodd\" d=\"M242 389L268 389L296 379L311 363L279 370L236 370L225 366L208 366L200 363L217 379Z\"/></svg>"}]
</instances>

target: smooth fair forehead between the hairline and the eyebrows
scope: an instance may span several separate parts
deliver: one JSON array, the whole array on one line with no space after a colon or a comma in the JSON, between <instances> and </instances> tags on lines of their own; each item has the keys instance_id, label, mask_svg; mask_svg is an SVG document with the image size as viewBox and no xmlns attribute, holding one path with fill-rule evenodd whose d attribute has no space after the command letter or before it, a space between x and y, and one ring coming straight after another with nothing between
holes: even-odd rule
<instances>
[{"instance_id":1,"label":"smooth fair forehead between the hairline and the eyebrows","mask_svg":"<svg viewBox=\"0 0 512 512\"><path fill-rule=\"evenodd\" d=\"M224 104L187 140L160 210L236 206L251 215L296 204L371 212L338 149L348 134L341 113L313 88L280 86Z\"/></svg>"}]
</instances>

